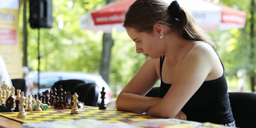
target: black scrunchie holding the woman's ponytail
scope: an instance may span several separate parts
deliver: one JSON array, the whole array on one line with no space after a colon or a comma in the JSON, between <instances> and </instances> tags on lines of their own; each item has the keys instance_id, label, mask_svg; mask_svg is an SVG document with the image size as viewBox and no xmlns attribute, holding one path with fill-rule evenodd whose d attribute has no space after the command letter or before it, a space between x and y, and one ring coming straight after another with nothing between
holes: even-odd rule
<instances>
[{"instance_id":1,"label":"black scrunchie holding the woman's ponytail","mask_svg":"<svg viewBox=\"0 0 256 128\"><path fill-rule=\"evenodd\" d=\"M181 8L176 0L171 2L170 6L168 7L168 11L171 13L173 18L181 18Z\"/></svg>"}]
</instances>

